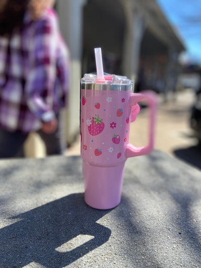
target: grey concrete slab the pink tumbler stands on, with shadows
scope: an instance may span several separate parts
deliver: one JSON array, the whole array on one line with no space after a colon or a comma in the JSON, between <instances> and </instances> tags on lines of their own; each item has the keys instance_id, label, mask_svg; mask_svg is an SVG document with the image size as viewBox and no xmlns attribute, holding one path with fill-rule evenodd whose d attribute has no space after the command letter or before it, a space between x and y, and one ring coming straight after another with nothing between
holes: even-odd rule
<instances>
[{"instance_id":1,"label":"grey concrete slab the pink tumbler stands on, with shadows","mask_svg":"<svg viewBox=\"0 0 201 268\"><path fill-rule=\"evenodd\" d=\"M121 204L84 203L81 158L0 161L0 267L201 267L201 172L160 151L126 162Z\"/></svg>"}]
</instances>

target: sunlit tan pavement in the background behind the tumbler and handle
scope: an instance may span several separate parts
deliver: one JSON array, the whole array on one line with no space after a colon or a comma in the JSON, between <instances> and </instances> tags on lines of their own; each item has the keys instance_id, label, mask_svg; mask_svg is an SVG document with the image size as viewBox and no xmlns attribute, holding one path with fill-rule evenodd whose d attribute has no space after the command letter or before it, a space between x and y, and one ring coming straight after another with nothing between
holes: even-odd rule
<instances>
[{"instance_id":1,"label":"sunlit tan pavement in the background behind the tumbler and handle","mask_svg":"<svg viewBox=\"0 0 201 268\"><path fill-rule=\"evenodd\" d=\"M169 96L167 103L159 96L157 112L155 149L174 155L179 148L195 146L197 141L192 137L189 128L190 107L194 101L192 90L176 93L174 101ZM147 144L148 111L141 109L137 120L130 125L130 143L135 146ZM65 155L80 154L80 137L67 149Z\"/></svg>"}]
</instances>

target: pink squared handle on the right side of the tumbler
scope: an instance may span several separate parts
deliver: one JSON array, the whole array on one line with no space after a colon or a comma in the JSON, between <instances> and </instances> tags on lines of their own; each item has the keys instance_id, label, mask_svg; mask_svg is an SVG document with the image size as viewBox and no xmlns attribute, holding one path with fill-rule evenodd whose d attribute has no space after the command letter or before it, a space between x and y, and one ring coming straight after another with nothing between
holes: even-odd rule
<instances>
[{"instance_id":1,"label":"pink squared handle on the right side of the tumbler","mask_svg":"<svg viewBox=\"0 0 201 268\"><path fill-rule=\"evenodd\" d=\"M126 157L139 156L143 154L149 154L154 147L154 128L157 106L157 95L154 92L146 91L143 94L133 93L130 97L130 106L137 105L138 102L145 100L150 109L150 126L149 126L149 143L145 147L135 147L132 144L128 144L126 147Z\"/></svg>"}]
</instances>

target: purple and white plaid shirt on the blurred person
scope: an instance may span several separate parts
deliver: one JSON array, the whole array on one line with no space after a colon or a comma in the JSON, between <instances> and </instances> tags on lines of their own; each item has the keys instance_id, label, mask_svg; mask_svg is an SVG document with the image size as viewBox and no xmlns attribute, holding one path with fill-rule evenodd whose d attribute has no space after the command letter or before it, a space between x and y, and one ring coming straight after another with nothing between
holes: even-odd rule
<instances>
[{"instance_id":1,"label":"purple and white plaid shirt on the blurred person","mask_svg":"<svg viewBox=\"0 0 201 268\"><path fill-rule=\"evenodd\" d=\"M38 21L26 13L10 40L0 37L0 127L38 130L65 106L68 50L51 9Z\"/></svg>"}]
</instances>

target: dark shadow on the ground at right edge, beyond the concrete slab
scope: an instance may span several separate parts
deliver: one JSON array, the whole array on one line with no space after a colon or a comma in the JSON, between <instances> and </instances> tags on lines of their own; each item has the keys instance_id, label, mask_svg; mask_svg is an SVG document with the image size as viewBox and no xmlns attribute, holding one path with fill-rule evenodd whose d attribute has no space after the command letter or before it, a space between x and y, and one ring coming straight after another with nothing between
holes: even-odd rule
<instances>
[{"instance_id":1,"label":"dark shadow on the ground at right edge, beyond the concrete slab","mask_svg":"<svg viewBox=\"0 0 201 268\"><path fill-rule=\"evenodd\" d=\"M191 146L188 148L176 149L174 154L177 158L201 169L201 146Z\"/></svg>"}]
</instances>

